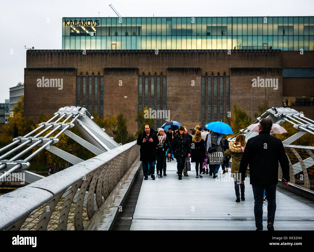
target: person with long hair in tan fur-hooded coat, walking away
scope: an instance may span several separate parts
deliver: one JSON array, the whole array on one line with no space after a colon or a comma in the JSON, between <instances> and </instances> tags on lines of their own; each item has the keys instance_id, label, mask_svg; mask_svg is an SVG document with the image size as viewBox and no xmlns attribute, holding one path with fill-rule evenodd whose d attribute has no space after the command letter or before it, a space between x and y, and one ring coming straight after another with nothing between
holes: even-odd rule
<instances>
[{"instance_id":1,"label":"person with long hair in tan fur-hooded coat, walking away","mask_svg":"<svg viewBox=\"0 0 314 252\"><path fill-rule=\"evenodd\" d=\"M241 200L245 200L244 198L244 181L241 182L241 178L239 175L239 167L242 158L242 154L245 148L245 136L243 134L236 136L236 141L234 143L229 143L229 149L225 151L224 155L231 156L231 177L234 178L235 181L235 191L236 191L236 202L240 202L240 189L241 189ZM247 173L245 173L246 177Z\"/></svg>"}]
</instances>

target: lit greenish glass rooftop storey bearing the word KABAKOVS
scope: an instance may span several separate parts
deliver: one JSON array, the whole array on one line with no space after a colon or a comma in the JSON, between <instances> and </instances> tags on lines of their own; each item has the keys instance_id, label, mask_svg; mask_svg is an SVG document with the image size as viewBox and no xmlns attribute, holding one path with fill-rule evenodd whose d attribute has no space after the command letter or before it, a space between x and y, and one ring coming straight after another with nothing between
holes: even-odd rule
<instances>
[{"instance_id":1,"label":"lit greenish glass rooftop storey bearing the word KABAKOVS","mask_svg":"<svg viewBox=\"0 0 314 252\"><path fill-rule=\"evenodd\" d=\"M314 17L62 18L62 49L314 50Z\"/></svg>"}]
</instances>

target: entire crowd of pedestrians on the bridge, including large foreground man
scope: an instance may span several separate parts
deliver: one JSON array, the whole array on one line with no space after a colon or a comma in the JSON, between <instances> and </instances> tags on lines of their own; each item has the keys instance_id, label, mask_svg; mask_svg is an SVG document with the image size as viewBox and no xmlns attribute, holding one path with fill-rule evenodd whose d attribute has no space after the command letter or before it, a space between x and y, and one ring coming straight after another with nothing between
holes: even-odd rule
<instances>
[{"instance_id":1,"label":"entire crowd of pedestrians on the bridge, including large foreground man","mask_svg":"<svg viewBox=\"0 0 314 252\"><path fill-rule=\"evenodd\" d=\"M259 134L247 142L243 134L238 134L234 142L228 142L217 132L206 128L201 132L199 125L192 129L192 134L188 134L184 126L180 126L175 131L169 129L168 132L159 128L156 134L154 129L145 125L145 131L137 140L137 144L141 146L140 161L142 161L144 179L147 180L149 175L153 180L155 179L155 163L157 176L159 178L166 176L166 162L174 161L175 158L178 179L181 180L182 174L188 176L187 164L190 157L191 162L195 163L195 178L203 178L202 173L217 178L220 166L223 174L228 172L229 160L232 158L231 177L234 179L236 202L245 200L244 180L249 165L256 230L263 230L265 192L268 200L267 229L274 230L278 163L282 169L282 183L286 186L290 175L284 146L281 140L270 134L272 124L271 119L262 118L259 122Z\"/></svg>"}]
</instances>

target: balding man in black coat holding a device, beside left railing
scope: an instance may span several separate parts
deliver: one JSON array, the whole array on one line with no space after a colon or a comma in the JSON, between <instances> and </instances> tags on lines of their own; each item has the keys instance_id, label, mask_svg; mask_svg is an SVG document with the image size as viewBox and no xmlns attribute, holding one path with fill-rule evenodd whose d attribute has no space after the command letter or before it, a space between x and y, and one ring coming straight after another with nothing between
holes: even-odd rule
<instances>
[{"instance_id":1,"label":"balding man in black coat holding a device, beside left railing","mask_svg":"<svg viewBox=\"0 0 314 252\"><path fill-rule=\"evenodd\" d=\"M148 175L152 179L155 179L155 164L156 161L156 145L159 143L158 137L154 132L154 129L150 129L149 125L145 125L145 131L138 136L137 144L141 146L140 161L142 161L142 168L144 179L148 179ZM148 165L149 173L148 174Z\"/></svg>"}]
</instances>

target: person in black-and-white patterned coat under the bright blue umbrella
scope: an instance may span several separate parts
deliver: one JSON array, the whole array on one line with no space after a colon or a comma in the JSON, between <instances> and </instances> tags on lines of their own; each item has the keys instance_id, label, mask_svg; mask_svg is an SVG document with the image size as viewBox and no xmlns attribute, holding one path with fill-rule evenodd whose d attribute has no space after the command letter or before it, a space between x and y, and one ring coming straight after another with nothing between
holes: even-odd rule
<instances>
[{"instance_id":1,"label":"person in black-and-white patterned coat under the bright blue umbrella","mask_svg":"<svg viewBox=\"0 0 314 252\"><path fill-rule=\"evenodd\" d=\"M218 176L219 167L224 165L224 143L222 134L211 131L211 134L207 134L206 136L205 148L208 152L208 160L213 178Z\"/></svg>"}]
</instances>

